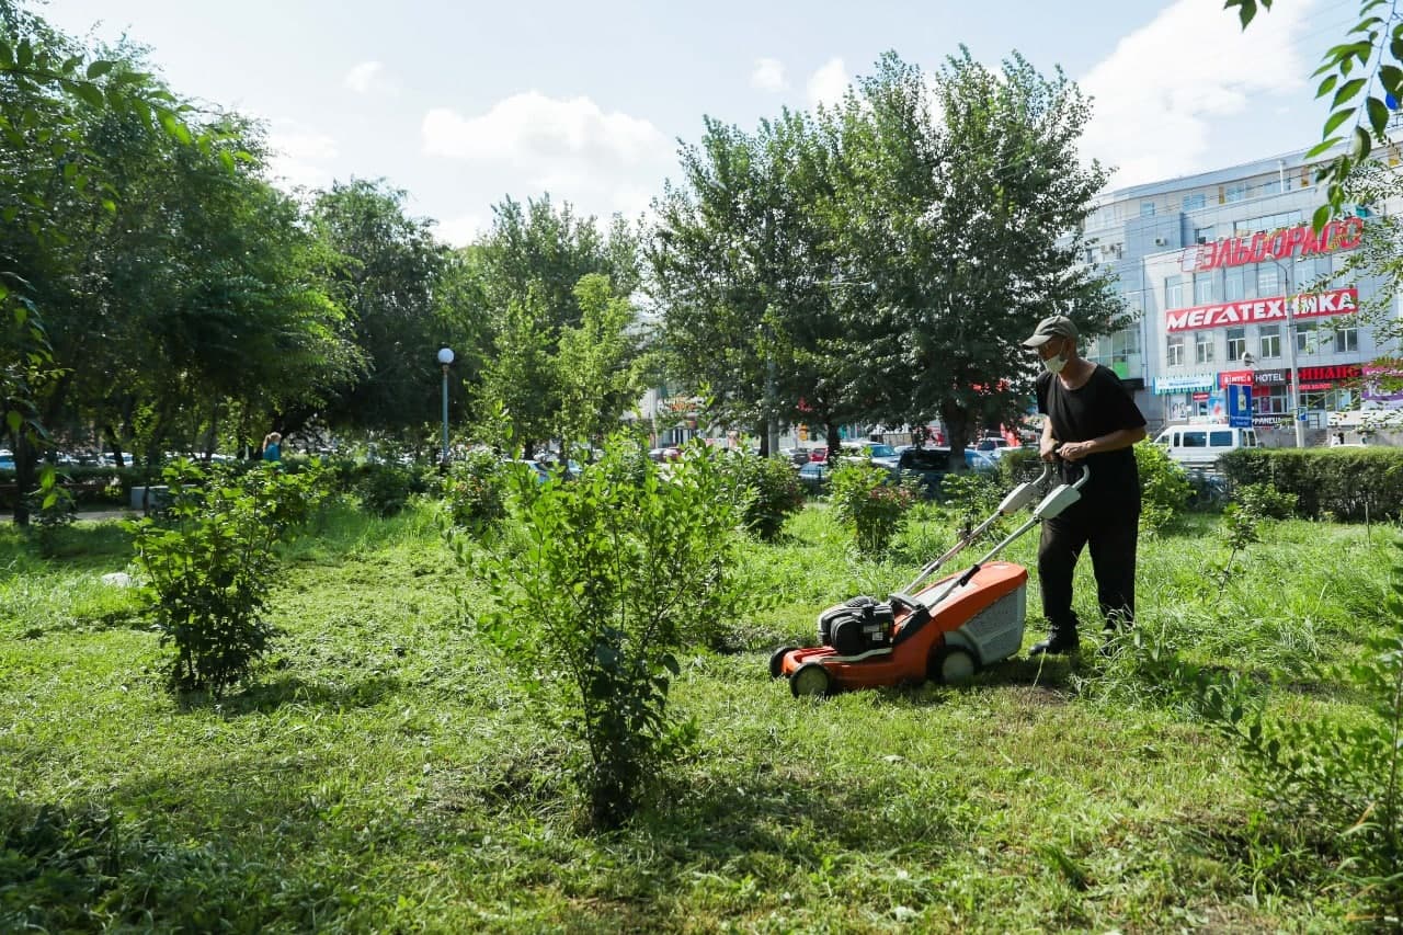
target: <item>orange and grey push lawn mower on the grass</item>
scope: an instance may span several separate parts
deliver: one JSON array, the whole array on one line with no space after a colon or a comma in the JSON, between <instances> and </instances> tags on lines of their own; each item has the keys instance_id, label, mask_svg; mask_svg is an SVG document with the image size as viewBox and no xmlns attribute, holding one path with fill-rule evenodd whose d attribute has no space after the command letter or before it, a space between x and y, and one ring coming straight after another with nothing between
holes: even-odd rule
<instances>
[{"instance_id":1,"label":"orange and grey push lawn mower on the grass","mask_svg":"<svg viewBox=\"0 0 1403 935\"><path fill-rule=\"evenodd\" d=\"M967 529L948 552L887 601L856 597L818 615L819 646L784 646L770 656L770 677L788 679L796 698L831 695L843 688L874 688L927 678L968 681L981 667L1009 658L1023 646L1028 571L995 562L1003 549L1044 519L1082 498L1090 479L1085 465L1075 483L1052 489L1033 515L960 574L922 583L975 542L999 517L1012 517L1038 500L1052 476L1047 465L1037 480L1019 484L988 519ZM918 588L920 588L918 591Z\"/></svg>"}]
</instances>

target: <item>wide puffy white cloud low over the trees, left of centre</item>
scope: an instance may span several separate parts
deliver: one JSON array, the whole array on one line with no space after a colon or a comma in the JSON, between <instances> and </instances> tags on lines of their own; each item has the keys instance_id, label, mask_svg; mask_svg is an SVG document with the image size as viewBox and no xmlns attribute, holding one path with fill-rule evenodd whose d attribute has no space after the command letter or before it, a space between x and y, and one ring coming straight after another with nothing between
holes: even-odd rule
<instances>
[{"instance_id":1,"label":"wide puffy white cloud low over the trees, left of centre","mask_svg":"<svg viewBox=\"0 0 1403 935\"><path fill-rule=\"evenodd\" d=\"M516 198L550 192L581 213L629 218L675 166L675 145L650 121L606 112L588 97L515 94L485 114L424 115L424 152L506 171Z\"/></svg>"}]
</instances>

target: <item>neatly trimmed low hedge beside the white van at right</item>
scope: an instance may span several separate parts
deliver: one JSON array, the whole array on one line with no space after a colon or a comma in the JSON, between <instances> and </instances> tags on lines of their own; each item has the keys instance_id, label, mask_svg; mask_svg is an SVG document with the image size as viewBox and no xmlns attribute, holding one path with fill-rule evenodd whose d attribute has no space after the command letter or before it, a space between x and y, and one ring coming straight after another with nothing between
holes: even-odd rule
<instances>
[{"instance_id":1,"label":"neatly trimmed low hedge beside the white van at right","mask_svg":"<svg viewBox=\"0 0 1403 935\"><path fill-rule=\"evenodd\" d=\"M1396 448L1242 448L1218 459L1235 487L1270 483L1296 497L1308 519L1403 518L1403 451Z\"/></svg>"}]
</instances>

